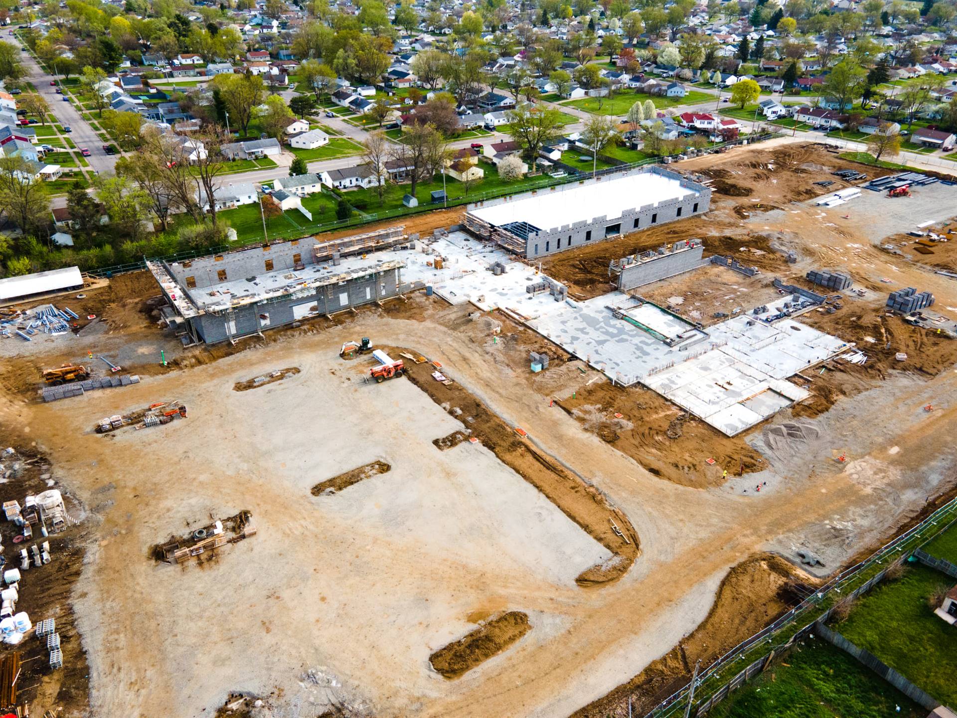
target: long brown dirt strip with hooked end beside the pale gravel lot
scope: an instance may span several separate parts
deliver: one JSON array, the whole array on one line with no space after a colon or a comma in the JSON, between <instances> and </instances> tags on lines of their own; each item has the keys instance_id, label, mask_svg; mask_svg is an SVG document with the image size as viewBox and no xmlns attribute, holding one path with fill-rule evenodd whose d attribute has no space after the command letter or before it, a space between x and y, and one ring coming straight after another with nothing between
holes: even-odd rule
<instances>
[{"instance_id":1,"label":"long brown dirt strip with hooked end beside the pale gravel lot","mask_svg":"<svg viewBox=\"0 0 957 718\"><path fill-rule=\"evenodd\" d=\"M395 355L403 348L387 348ZM617 560L592 567L578 576L582 586L603 584L620 578L631 568L639 553L637 532L621 511L594 486L582 481L565 467L545 456L528 439L519 434L519 427L507 425L475 396L456 383L445 385L435 381L434 366L428 362L407 362L406 376L449 414L461 420L472 437L477 438L526 482L541 491L562 513L582 527L595 541L612 551Z\"/></svg>"}]
</instances>

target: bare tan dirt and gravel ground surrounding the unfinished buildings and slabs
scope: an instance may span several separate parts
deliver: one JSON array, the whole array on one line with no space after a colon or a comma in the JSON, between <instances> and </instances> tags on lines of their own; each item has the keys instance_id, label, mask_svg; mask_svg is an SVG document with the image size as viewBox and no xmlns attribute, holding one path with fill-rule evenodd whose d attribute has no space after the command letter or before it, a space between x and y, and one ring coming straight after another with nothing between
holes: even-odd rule
<instances>
[{"instance_id":1,"label":"bare tan dirt and gravel ground surrounding the unfinished buildings and slabs","mask_svg":"<svg viewBox=\"0 0 957 718\"><path fill-rule=\"evenodd\" d=\"M86 335L0 343L0 426L48 459L72 505L91 506L71 529L75 553L63 551L76 583L67 572L56 586L33 584L43 587L40 613L75 612L82 644L72 641L78 652L66 671L38 671L44 700L31 712L56 704L65 716L155 706L197 717L604 716L627 714L629 693L654 703L695 661L745 639L817 580L780 556L807 548L826 558L821 573L834 572L953 490L957 449L946 437L957 421L957 342L882 306L887 292L918 286L952 316L957 284L882 250L885 237L873 236L853 203L822 211L804 201L814 180L835 179L831 169L846 165L815 146L681 163L709 173L716 193L706 217L545 266L576 295L595 296L608 288L612 258L699 236L706 254L762 273L746 280L708 268L697 281L642 289L705 323L728 306L765 301L775 276L850 271L865 295L800 321L855 342L868 362L804 372L795 380L812 398L741 438L657 394L612 387L498 313L423 295L236 347L183 350L153 325L151 280L130 276L94 298L91 311L105 321ZM452 221L439 214L418 215L421 226L407 222L407 231ZM421 352L454 384L434 381L430 365L367 383L367 357L337 356L361 336ZM38 370L87 350L144 381L36 403ZM530 350L549 355L548 369L528 370ZM278 367L300 372L234 392ZM100 416L167 396L189 406L189 419L162 432L92 433ZM805 427L805 444L765 440L789 423ZM834 460L840 452L844 463ZM389 473L313 495L376 461ZM766 490L746 493L765 480ZM256 536L215 560L167 567L147 558L157 537L243 509L254 513ZM631 557L610 515L632 540ZM618 556L626 571L615 569ZM583 586L596 566L616 580ZM510 612L527 617L521 640L455 681L430 665L478 622ZM251 700L231 709L231 696Z\"/></svg>"}]
</instances>

